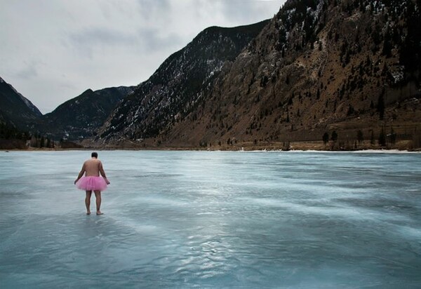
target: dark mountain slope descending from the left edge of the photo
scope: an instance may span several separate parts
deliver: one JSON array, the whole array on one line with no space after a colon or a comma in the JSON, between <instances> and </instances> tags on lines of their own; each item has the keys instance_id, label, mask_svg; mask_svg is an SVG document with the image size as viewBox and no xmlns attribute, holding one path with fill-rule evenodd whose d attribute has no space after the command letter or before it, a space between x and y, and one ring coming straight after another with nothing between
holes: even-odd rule
<instances>
[{"instance_id":1,"label":"dark mountain slope descending from the left edge of the photo","mask_svg":"<svg viewBox=\"0 0 421 289\"><path fill-rule=\"evenodd\" d=\"M41 115L32 102L0 78L0 123L27 130Z\"/></svg>"}]
</instances>

